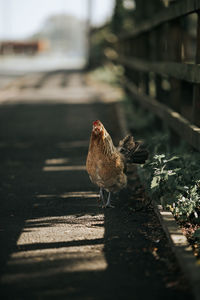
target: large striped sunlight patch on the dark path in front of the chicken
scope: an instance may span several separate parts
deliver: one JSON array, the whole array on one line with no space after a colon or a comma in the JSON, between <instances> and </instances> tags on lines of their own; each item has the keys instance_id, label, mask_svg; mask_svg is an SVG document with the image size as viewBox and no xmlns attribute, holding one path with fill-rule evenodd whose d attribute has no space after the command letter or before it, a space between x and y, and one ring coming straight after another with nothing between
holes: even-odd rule
<instances>
[{"instance_id":1,"label":"large striped sunlight patch on the dark path in front of the chicken","mask_svg":"<svg viewBox=\"0 0 200 300\"><path fill-rule=\"evenodd\" d=\"M29 285L33 278L106 268L103 213L39 217L25 221L1 282Z\"/></svg>"}]
</instances>

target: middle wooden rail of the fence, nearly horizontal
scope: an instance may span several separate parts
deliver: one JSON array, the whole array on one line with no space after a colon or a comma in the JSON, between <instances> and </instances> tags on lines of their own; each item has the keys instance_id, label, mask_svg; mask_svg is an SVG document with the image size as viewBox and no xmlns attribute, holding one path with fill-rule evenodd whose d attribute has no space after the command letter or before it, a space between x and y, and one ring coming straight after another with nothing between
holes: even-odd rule
<instances>
[{"instance_id":1,"label":"middle wooden rail of the fence, nearly horizontal","mask_svg":"<svg viewBox=\"0 0 200 300\"><path fill-rule=\"evenodd\" d=\"M117 62L143 72L155 72L192 83L200 83L200 66L176 62L150 62L134 57L119 56Z\"/></svg>"}]
</instances>

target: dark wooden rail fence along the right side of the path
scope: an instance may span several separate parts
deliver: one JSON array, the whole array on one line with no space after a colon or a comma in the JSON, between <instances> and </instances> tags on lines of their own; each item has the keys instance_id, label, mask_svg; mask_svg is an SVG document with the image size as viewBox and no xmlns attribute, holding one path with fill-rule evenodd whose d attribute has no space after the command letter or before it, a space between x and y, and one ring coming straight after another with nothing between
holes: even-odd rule
<instances>
[{"instance_id":1,"label":"dark wooden rail fence along the right side of the path","mask_svg":"<svg viewBox=\"0 0 200 300\"><path fill-rule=\"evenodd\" d=\"M200 0L163 8L119 36L115 50L133 98L200 151Z\"/></svg>"}]
</instances>

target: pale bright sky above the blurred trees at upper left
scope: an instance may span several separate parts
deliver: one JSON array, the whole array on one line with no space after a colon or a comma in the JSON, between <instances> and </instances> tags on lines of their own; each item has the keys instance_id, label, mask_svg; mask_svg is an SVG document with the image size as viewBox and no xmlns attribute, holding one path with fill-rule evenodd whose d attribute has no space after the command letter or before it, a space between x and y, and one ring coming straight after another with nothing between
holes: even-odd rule
<instances>
[{"instance_id":1,"label":"pale bright sky above the blurred trees at upper left","mask_svg":"<svg viewBox=\"0 0 200 300\"><path fill-rule=\"evenodd\" d=\"M103 24L112 14L114 0L90 0L92 24ZM36 32L53 14L67 13L81 19L88 15L89 0L0 0L0 39L24 38Z\"/></svg>"}]
</instances>

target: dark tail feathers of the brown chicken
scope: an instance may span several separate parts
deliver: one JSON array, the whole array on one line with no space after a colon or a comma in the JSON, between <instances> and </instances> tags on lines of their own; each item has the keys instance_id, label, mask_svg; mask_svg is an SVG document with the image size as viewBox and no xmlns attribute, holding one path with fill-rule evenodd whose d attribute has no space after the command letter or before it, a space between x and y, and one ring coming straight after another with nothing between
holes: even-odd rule
<instances>
[{"instance_id":1,"label":"dark tail feathers of the brown chicken","mask_svg":"<svg viewBox=\"0 0 200 300\"><path fill-rule=\"evenodd\" d=\"M120 141L118 149L128 163L144 164L148 158L148 151L143 147L142 142L134 141L131 135L127 135Z\"/></svg>"}]
</instances>

